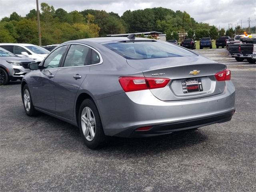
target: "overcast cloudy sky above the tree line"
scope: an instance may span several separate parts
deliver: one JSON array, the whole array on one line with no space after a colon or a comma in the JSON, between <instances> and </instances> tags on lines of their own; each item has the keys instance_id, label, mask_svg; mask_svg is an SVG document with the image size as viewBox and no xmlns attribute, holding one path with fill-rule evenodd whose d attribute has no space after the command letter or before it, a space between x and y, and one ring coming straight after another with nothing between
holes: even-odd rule
<instances>
[{"instance_id":1,"label":"overcast cloudy sky above the tree line","mask_svg":"<svg viewBox=\"0 0 256 192\"><path fill-rule=\"evenodd\" d=\"M227 29L228 23L232 23L234 28L237 23L241 24L241 20L242 27L247 27L248 17L250 25L256 25L256 0L39 0L39 4L42 2L68 12L96 9L113 11L120 16L126 10L164 7L186 11L197 22L220 25L220 28ZM14 11L26 16L31 9L36 9L36 0L0 0L0 19Z\"/></svg>"}]
</instances>

